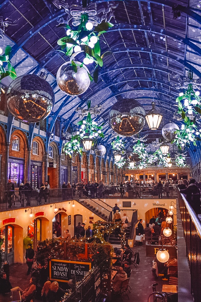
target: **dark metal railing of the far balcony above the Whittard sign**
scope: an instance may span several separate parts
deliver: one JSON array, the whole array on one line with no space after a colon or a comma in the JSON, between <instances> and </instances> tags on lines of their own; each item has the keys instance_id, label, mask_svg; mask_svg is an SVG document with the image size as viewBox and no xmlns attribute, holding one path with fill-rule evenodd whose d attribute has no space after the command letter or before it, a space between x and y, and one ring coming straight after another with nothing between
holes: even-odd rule
<instances>
[{"instance_id":1,"label":"dark metal railing of the far balcony above the Whittard sign","mask_svg":"<svg viewBox=\"0 0 201 302\"><path fill-rule=\"evenodd\" d=\"M98 188L95 198L177 198L177 185L169 187L105 187L99 193Z\"/></svg>"}]
</instances>

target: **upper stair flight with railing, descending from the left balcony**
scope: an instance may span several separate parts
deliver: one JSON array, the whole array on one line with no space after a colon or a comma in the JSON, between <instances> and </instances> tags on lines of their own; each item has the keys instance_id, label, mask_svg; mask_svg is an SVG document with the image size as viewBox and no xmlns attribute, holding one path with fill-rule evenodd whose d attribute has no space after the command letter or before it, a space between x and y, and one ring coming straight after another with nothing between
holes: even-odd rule
<instances>
[{"instance_id":1,"label":"upper stair flight with railing, descending from the left balcony","mask_svg":"<svg viewBox=\"0 0 201 302\"><path fill-rule=\"evenodd\" d=\"M93 199L75 190L74 199L105 221L112 221L112 212L102 207Z\"/></svg>"}]
</instances>

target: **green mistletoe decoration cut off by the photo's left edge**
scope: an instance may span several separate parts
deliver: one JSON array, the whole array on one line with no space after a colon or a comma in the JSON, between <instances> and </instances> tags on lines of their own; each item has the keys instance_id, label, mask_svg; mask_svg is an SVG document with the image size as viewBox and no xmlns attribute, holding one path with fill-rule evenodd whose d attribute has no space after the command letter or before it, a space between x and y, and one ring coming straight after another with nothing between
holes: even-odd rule
<instances>
[{"instance_id":1,"label":"green mistletoe decoration cut off by the photo's left edge","mask_svg":"<svg viewBox=\"0 0 201 302\"><path fill-rule=\"evenodd\" d=\"M11 61L9 60L9 55L11 52L11 47L6 46L5 53L0 56L0 82L2 79L4 79L7 76L10 76L11 79L16 79L17 74L14 69L14 67L11 65ZM0 54L2 54L3 50L0 48ZM6 64L8 65L8 70L5 69ZM1 88L2 92L5 93L5 91Z\"/></svg>"}]
</instances>

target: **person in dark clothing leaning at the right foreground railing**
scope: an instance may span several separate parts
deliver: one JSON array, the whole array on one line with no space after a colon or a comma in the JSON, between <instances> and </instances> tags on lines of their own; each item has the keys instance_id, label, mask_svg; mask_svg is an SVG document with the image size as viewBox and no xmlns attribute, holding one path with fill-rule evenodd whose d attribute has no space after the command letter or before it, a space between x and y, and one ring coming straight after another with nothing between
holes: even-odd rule
<instances>
[{"instance_id":1,"label":"person in dark clothing leaning at the right foreground railing","mask_svg":"<svg viewBox=\"0 0 201 302\"><path fill-rule=\"evenodd\" d=\"M190 185L184 190L181 190L181 193L186 194L186 199L193 208L193 210L196 212L196 214L201 214L200 209L200 191L198 187L195 185L195 179L191 179Z\"/></svg>"}]
</instances>

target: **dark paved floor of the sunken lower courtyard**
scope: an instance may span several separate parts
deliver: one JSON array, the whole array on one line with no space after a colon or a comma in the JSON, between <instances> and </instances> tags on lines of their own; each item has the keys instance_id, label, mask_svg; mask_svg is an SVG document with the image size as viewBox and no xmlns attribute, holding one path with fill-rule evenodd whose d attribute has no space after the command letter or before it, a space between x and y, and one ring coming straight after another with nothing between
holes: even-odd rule
<instances>
[{"instance_id":1,"label":"dark paved floor of the sunken lower courtyard","mask_svg":"<svg viewBox=\"0 0 201 302\"><path fill-rule=\"evenodd\" d=\"M157 291L162 290L163 284L168 284L168 281L162 281L162 277L158 277L157 280L152 276L152 260L153 257L146 257L145 243L142 246L134 246L134 251L139 251L140 254L140 265L133 269L130 276L130 293L128 296L131 302L146 302L148 295L152 292L151 285L157 282ZM27 288L29 284L30 275L27 276L27 265L14 264L10 266L10 282L12 287L20 286L22 289ZM128 300L126 295L122 296L123 301ZM115 297L115 301L121 301L120 298ZM128 300L129 301L129 300ZM152 300L151 300L152 301ZM37 300L35 301L37 302Z\"/></svg>"}]
</instances>

